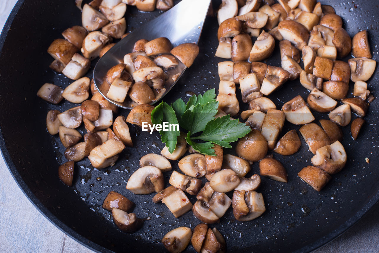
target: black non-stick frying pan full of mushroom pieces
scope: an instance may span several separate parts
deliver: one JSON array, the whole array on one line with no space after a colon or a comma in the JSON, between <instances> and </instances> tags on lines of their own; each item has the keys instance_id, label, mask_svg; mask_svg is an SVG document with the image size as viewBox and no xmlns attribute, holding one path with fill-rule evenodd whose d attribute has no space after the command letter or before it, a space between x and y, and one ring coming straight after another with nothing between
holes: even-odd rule
<instances>
[{"instance_id":1,"label":"black non-stick frying pan full of mushroom pieces","mask_svg":"<svg viewBox=\"0 0 379 253\"><path fill-rule=\"evenodd\" d=\"M216 8L220 2L215 0L213 6ZM378 60L379 26L374 20L379 18L379 7L376 1L321 2L332 5L342 16L350 36L360 29L369 30L373 59ZM127 30L133 30L139 22L159 14L158 11L139 13L136 8L128 7ZM80 11L74 0L19 0L9 16L0 38L0 146L4 159L30 201L46 218L78 242L102 252L161 252L164 248L160 240L169 230L178 226L193 228L200 222L192 212L175 219L164 204L152 203L153 194L133 195L125 189L128 178L138 168L139 158L147 153L159 153L163 148L157 133L150 135L130 126L135 146L126 148L113 167L96 170L85 159L75 165L72 187L58 179L58 166L66 162L62 156L65 148L57 136L47 133L45 116L48 110L63 112L73 105L67 101L50 105L39 99L36 93L45 82L62 87L71 82L48 68L53 59L46 50L54 39L61 38L61 31L80 25L80 20ZM218 87L217 63L222 59L213 56L218 44L217 27L216 18L208 17L199 42L199 57L164 98L166 102L173 102L179 97L186 101L190 94ZM276 49L267 63L280 66L278 55ZM374 83L378 81L376 71L369 81L369 89L374 96L378 89ZM308 91L297 80L286 83L269 98L281 108L284 102L298 94L306 98ZM263 193L266 212L250 222L237 222L230 208L220 223L210 225L224 234L227 249L230 252L311 251L357 222L379 199L379 172L375 166L379 162L378 104L376 100L371 103L365 117L367 123L358 140L352 140L349 127L343 128L348 162L321 192L314 191L296 176L298 171L311 164L312 154L304 141L294 156L274 154L287 168L289 182L285 184L262 178L259 192ZM244 105L241 110L246 107ZM124 116L127 113L126 110L120 112ZM315 117L321 119L327 115L315 113ZM299 127L287 122L282 134L291 129L298 130ZM80 131L84 132L84 128ZM371 162L366 163L365 157ZM172 165L179 170L177 162L172 162ZM254 163L250 174L257 172L258 163ZM170 173L165 174L167 184ZM110 213L101 207L111 190L135 202L134 212L138 217L151 217L151 220L132 234L117 230ZM195 198L191 196L190 200L194 203ZM193 252L192 246L186 251Z\"/></svg>"}]
</instances>

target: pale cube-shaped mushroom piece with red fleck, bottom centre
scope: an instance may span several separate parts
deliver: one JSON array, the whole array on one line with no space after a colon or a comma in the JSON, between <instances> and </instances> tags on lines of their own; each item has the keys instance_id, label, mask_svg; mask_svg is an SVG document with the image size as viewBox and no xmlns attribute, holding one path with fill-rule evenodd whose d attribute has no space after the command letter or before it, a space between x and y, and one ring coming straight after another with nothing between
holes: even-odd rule
<instances>
[{"instance_id":1,"label":"pale cube-shaped mushroom piece with red fleck, bottom centre","mask_svg":"<svg viewBox=\"0 0 379 253\"><path fill-rule=\"evenodd\" d=\"M162 203L168 207L175 218L182 216L192 208L191 202L188 200L185 193L180 189L164 197L162 199Z\"/></svg>"}]
</instances>

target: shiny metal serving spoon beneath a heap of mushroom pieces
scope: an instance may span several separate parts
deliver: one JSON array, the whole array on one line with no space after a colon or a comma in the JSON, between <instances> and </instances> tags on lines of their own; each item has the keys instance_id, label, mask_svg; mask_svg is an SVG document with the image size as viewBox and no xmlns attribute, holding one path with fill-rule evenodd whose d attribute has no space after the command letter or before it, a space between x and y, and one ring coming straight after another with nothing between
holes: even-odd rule
<instances>
[{"instance_id":1,"label":"shiny metal serving spoon beneath a heap of mushroom pieces","mask_svg":"<svg viewBox=\"0 0 379 253\"><path fill-rule=\"evenodd\" d=\"M183 43L195 42L197 44L210 2L211 0L182 0L169 11L141 25L114 45L100 58L94 69L94 83L99 93L109 102L121 108L132 109L135 107L137 104L128 98L125 99L123 103L119 103L106 96L110 86L105 80L106 72L113 66L124 63L124 55L132 52L134 43L139 39L147 39L150 41L156 38L166 37L171 41L173 47ZM186 66L180 62L176 68L166 72L169 76L164 86L166 91L161 93L160 97L151 104L162 99L179 80L185 70ZM179 74L179 77L176 78L176 80L171 78L177 74Z\"/></svg>"}]
</instances>

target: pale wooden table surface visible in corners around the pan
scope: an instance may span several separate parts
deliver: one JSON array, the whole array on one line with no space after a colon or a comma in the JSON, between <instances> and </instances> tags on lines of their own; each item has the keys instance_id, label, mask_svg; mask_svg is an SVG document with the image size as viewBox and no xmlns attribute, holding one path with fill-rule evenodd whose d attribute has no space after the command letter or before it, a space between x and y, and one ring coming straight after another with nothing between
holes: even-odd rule
<instances>
[{"instance_id":1,"label":"pale wooden table surface visible in corners around the pan","mask_svg":"<svg viewBox=\"0 0 379 253\"><path fill-rule=\"evenodd\" d=\"M16 2L0 0L0 30ZM12 178L3 157L0 185L0 252L94 252L56 228L33 206ZM379 252L379 205L345 234L313 252L332 251Z\"/></svg>"}]
</instances>

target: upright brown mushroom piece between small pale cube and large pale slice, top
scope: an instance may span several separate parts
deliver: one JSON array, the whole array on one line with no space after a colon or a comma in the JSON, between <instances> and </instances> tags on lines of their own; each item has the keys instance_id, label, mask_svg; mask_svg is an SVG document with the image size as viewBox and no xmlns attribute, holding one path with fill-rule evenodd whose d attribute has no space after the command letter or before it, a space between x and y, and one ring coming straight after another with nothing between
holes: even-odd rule
<instances>
[{"instance_id":1,"label":"upright brown mushroom piece between small pale cube and large pale slice, top","mask_svg":"<svg viewBox=\"0 0 379 253\"><path fill-rule=\"evenodd\" d=\"M252 47L253 42L249 35L246 33L236 35L232 40L232 61L246 61L249 59L249 52Z\"/></svg>"}]
</instances>

